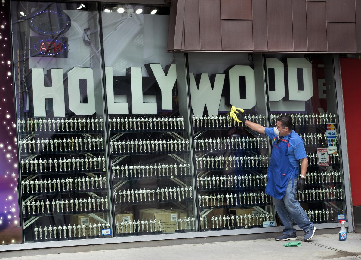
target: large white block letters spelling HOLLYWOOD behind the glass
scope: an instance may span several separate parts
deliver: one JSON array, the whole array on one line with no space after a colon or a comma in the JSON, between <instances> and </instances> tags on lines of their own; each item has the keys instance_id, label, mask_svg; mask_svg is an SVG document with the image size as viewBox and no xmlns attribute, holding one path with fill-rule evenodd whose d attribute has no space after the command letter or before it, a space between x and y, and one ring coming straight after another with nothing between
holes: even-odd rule
<instances>
[{"instance_id":1,"label":"large white block letters spelling HOLLYWOOD behind the glass","mask_svg":"<svg viewBox=\"0 0 361 260\"><path fill-rule=\"evenodd\" d=\"M267 68L272 70L274 89L269 91L270 101L280 101L286 96L284 82L284 64L275 58L267 58ZM177 81L177 67L175 64L167 66L164 71L161 64L148 64L148 74L152 75L161 93L161 109L172 110L172 90ZM147 69L148 70L148 69ZM34 116L46 116L45 99L53 100L53 114L56 117L65 116L64 79L62 69L51 69L51 86L44 85L44 70L32 68L32 94ZM288 58L288 100L306 101L312 95L312 67L306 59ZM67 73L69 109L77 115L92 115L95 113L95 93L93 71L91 68L75 67ZM240 97L240 77L245 79L245 97ZM120 103L114 100L113 68L105 67L106 97L109 114L129 114L129 103ZM142 89L142 68L130 68L131 102L133 114L156 114L157 103L144 102ZM214 80L211 80L214 79ZM190 73L191 103L194 115L202 115L206 106L209 115L218 113L221 100L227 103L251 109L256 105L256 86L253 69L249 66L235 65L226 73L217 73L209 77L201 73L196 77ZM87 103L81 103L79 80L87 82ZM268 81L270 81L268 76ZM225 83L229 84L225 84ZM301 83L300 83L301 82ZM299 85L302 85L299 88ZM229 88L226 93L229 97L222 99L223 88ZM158 92L158 91L157 91ZM225 107L225 104L221 104Z\"/></svg>"}]
</instances>

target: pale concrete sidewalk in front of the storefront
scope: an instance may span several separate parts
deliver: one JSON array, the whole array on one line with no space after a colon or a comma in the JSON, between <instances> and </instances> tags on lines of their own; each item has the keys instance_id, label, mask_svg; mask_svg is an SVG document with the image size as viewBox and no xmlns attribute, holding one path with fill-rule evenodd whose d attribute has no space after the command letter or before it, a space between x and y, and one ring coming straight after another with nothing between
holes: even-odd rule
<instances>
[{"instance_id":1,"label":"pale concrete sidewalk in front of the storefront","mask_svg":"<svg viewBox=\"0 0 361 260\"><path fill-rule=\"evenodd\" d=\"M339 241L338 234L315 235L312 242L301 247L284 247L290 241L255 239L189 245L158 246L70 253L70 248L59 248L58 254L12 257L8 259L361 259L361 234L347 234L346 241ZM1 255L0 255L1 256Z\"/></svg>"}]
</instances>

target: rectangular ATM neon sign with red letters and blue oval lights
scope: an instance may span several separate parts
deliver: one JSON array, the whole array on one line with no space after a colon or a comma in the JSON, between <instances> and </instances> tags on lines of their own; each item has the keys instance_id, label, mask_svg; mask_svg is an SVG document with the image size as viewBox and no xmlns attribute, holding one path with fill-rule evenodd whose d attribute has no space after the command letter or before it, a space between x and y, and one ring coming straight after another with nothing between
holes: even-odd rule
<instances>
[{"instance_id":1,"label":"rectangular ATM neon sign with red letters and blue oval lights","mask_svg":"<svg viewBox=\"0 0 361 260\"><path fill-rule=\"evenodd\" d=\"M30 38L30 55L31 57L55 57L67 58L68 38L62 37L49 39L48 37L31 37Z\"/></svg>"}]
</instances>

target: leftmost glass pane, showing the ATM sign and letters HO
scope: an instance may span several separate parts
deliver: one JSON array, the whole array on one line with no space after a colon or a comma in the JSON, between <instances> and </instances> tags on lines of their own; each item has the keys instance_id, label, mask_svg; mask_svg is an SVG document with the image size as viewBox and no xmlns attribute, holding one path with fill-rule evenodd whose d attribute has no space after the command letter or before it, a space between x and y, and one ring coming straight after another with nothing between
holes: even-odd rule
<instances>
[{"instance_id":1,"label":"leftmost glass pane, showing the ATM sign and letters HO","mask_svg":"<svg viewBox=\"0 0 361 260\"><path fill-rule=\"evenodd\" d=\"M109 237L96 4L11 9L25 242Z\"/></svg>"}]
</instances>

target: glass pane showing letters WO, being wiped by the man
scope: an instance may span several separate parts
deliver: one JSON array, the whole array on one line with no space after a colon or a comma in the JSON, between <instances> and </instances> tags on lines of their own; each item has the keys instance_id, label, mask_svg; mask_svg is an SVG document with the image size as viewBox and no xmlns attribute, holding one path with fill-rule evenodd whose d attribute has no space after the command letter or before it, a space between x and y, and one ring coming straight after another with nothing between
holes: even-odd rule
<instances>
[{"instance_id":1,"label":"glass pane showing letters WO, being wiped by the man","mask_svg":"<svg viewBox=\"0 0 361 260\"><path fill-rule=\"evenodd\" d=\"M262 68L257 54L189 54L201 230L274 225L268 138L229 120L234 105L268 124Z\"/></svg>"}]
</instances>

